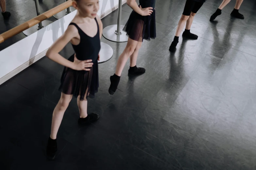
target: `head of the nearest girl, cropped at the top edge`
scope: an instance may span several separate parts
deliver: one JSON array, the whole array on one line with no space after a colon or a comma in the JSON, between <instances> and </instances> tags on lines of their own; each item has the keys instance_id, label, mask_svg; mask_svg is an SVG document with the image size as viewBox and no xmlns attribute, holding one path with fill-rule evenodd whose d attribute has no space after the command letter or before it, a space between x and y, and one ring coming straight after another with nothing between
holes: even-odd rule
<instances>
[{"instance_id":1,"label":"head of the nearest girl, cropped at the top edge","mask_svg":"<svg viewBox=\"0 0 256 170\"><path fill-rule=\"evenodd\" d=\"M99 10L99 0L74 0L73 7L83 17L95 18Z\"/></svg>"}]
</instances>

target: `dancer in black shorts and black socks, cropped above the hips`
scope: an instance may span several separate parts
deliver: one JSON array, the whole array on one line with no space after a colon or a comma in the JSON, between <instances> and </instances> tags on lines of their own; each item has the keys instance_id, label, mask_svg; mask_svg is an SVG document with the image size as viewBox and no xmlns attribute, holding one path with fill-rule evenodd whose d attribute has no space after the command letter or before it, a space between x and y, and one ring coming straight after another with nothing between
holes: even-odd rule
<instances>
[{"instance_id":1,"label":"dancer in black shorts and black socks, cropped above the hips","mask_svg":"<svg viewBox=\"0 0 256 170\"><path fill-rule=\"evenodd\" d=\"M179 42L179 35L186 24L185 31L183 32L182 36L189 39L197 39L198 36L195 34L190 33L190 28L192 22L194 20L194 16L196 12L202 7L206 0L187 0L184 11L181 15L181 18L178 23L178 27L176 29L174 40L169 48L171 52L176 49L176 46Z\"/></svg>"}]
</instances>

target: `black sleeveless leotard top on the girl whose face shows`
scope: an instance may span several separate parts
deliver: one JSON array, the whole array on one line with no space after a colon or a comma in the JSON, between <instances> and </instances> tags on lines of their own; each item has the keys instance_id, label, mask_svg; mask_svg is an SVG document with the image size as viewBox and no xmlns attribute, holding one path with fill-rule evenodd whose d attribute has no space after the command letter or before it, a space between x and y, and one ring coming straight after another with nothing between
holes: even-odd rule
<instances>
[{"instance_id":1,"label":"black sleeveless leotard top on the girl whose face shows","mask_svg":"<svg viewBox=\"0 0 256 170\"><path fill-rule=\"evenodd\" d=\"M94 37L90 37L85 34L76 23L71 22L69 24L77 27L78 33L80 35L80 43L78 45L72 44L78 60L91 59L94 63L98 59L98 54L100 51L99 25L96 18L95 21L97 23L98 32Z\"/></svg>"}]
</instances>

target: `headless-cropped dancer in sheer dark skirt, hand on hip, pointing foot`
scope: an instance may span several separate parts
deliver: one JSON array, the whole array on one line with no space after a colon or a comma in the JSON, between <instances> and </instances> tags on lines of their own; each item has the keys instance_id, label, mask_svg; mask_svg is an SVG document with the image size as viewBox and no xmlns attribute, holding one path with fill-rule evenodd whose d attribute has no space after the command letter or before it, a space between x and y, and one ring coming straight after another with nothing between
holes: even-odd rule
<instances>
[{"instance_id":1,"label":"headless-cropped dancer in sheer dark skirt, hand on hip, pointing foot","mask_svg":"<svg viewBox=\"0 0 256 170\"><path fill-rule=\"evenodd\" d=\"M140 5L138 6L136 0L127 0L128 6L133 9L124 27L129 38L125 50L118 59L115 74L110 77L110 94L114 94L116 91L121 73L129 57L130 69L128 73L136 75L145 73L145 68L137 67L136 61L143 39L150 40L150 38L156 37L156 0L140 0L139 2Z\"/></svg>"}]
</instances>

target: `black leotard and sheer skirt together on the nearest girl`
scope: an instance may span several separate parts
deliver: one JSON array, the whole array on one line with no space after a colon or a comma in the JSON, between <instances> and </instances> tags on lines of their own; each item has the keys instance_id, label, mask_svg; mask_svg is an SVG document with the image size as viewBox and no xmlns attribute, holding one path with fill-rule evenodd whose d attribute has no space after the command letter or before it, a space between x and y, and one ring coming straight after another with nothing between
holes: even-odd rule
<instances>
[{"instance_id":1,"label":"black leotard and sheer skirt together on the nearest girl","mask_svg":"<svg viewBox=\"0 0 256 170\"><path fill-rule=\"evenodd\" d=\"M87 99L88 95L90 98L94 97L94 94L98 92L99 78L98 78L98 54L100 51L100 36L99 36L99 25L97 23L98 32L94 37L86 35L76 23L71 22L69 25L77 27L80 35L80 43L73 45L78 60L93 60L93 66L90 71L77 71L68 67L64 67L61 76L61 84L59 90L64 94L73 94L74 97L80 95L80 100ZM74 62L73 54L68 60Z\"/></svg>"}]
</instances>

